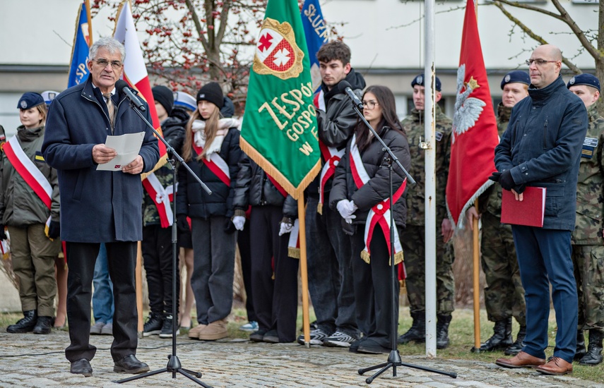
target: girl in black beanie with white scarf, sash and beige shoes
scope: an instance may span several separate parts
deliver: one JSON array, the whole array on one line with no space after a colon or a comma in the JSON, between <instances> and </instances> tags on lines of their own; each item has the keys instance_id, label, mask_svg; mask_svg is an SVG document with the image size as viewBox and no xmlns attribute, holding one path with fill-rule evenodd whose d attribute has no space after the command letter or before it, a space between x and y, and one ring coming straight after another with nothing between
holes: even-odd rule
<instances>
[{"instance_id":1,"label":"girl in black beanie with white scarf, sash and beige shoes","mask_svg":"<svg viewBox=\"0 0 604 388\"><path fill-rule=\"evenodd\" d=\"M227 104L225 104L227 102ZM178 173L177 226L189 229L191 219L194 269L191 287L199 325L189 337L214 340L227 337L227 316L232 307L235 268L233 195L242 155L239 122L234 107L218 83L208 83L197 93L197 109L186 125L182 158L212 191L208 195L189 171Z\"/></svg>"}]
</instances>

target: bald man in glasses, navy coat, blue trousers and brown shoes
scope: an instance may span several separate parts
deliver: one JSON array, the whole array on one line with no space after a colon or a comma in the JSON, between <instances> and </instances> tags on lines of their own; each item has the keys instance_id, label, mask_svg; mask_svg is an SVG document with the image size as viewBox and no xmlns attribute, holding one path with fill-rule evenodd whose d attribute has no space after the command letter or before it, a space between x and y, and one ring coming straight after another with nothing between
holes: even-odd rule
<instances>
[{"instance_id":1,"label":"bald man in glasses, navy coat, blue trousers and brown shoes","mask_svg":"<svg viewBox=\"0 0 604 388\"><path fill-rule=\"evenodd\" d=\"M539 46L526 61L529 97L511 111L509 126L495 148L492 179L516 200L526 186L546 188L543 227L512 225L526 299L526 337L513 358L499 358L505 368L536 367L547 375L572 372L576 350L577 293L571 260L579 158L587 132L581 99L569 92L562 77L562 53ZM554 355L545 362L550 286L556 312Z\"/></svg>"}]
</instances>

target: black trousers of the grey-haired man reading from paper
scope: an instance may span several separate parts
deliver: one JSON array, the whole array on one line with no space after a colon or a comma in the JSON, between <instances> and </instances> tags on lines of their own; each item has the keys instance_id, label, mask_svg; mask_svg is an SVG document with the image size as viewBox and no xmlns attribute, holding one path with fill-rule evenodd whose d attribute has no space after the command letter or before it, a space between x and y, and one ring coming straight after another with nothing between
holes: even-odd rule
<instances>
[{"instance_id":1,"label":"black trousers of the grey-haired man reading from paper","mask_svg":"<svg viewBox=\"0 0 604 388\"><path fill-rule=\"evenodd\" d=\"M114 361L136 354L138 313L134 269L136 242L105 243L109 277L113 281L115 312L113 315ZM93 274L100 243L66 243L67 264L67 320L71 344L65 349L66 358L73 362L81 358L92 360L96 348L90 345L90 299Z\"/></svg>"}]
</instances>

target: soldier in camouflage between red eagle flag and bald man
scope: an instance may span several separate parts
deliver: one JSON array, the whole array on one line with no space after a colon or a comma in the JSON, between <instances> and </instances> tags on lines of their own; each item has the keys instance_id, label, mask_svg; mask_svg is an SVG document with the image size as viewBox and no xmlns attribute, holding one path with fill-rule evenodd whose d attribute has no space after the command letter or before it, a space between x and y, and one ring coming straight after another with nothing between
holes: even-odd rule
<instances>
[{"instance_id":1,"label":"soldier in camouflage between red eagle flag and bald man","mask_svg":"<svg viewBox=\"0 0 604 388\"><path fill-rule=\"evenodd\" d=\"M501 87L502 102L497 107L497 132L501 136L507 129L511 108L528 96L531 78L526 71L511 71L504 75ZM478 199L478 210L470 207L466 212L470 229L473 219L482 220L482 271L485 272L485 307L487 317L495 322L493 335L480 345L480 351L505 349L507 355L516 355L522 350L526 334L526 304L524 289L520 279L520 269L516 260L514 238L511 225L502 224L502 188L493 185ZM511 336L511 317L520 324L516 341ZM475 350L474 348L472 349Z\"/></svg>"}]
</instances>

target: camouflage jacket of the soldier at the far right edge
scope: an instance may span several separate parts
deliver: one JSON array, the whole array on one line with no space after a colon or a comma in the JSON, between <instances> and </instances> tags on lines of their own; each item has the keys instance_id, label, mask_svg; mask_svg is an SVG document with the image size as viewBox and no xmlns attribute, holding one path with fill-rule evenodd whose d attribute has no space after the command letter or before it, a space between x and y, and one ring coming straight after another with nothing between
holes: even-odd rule
<instances>
[{"instance_id":1,"label":"camouflage jacket of the soldier at the far right edge","mask_svg":"<svg viewBox=\"0 0 604 388\"><path fill-rule=\"evenodd\" d=\"M581 152L579 180L576 185L576 225L572 243L602 245L604 238L604 118L598 115L597 104L587 108L589 123L586 141ZM589 147L598 143L596 147Z\"/></svg>"}]
</instances>

